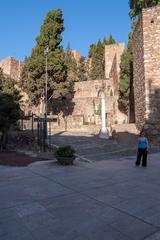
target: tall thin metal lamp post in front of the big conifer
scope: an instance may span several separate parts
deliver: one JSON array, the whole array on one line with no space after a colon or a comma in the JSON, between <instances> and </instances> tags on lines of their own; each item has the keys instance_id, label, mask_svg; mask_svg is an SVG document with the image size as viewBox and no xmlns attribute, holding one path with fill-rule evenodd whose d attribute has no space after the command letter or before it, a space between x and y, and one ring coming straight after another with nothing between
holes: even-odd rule
<instances>
[{"instance_id":1,"label":"tall thin metal lamp post in front of the big conifer","mask_svg":"<svg viewBox=\"0 0 160 240\"><path fill-rule=\"evenodd\" d=\"M44 50L44 55L46 57L46 76L45 76L45 108L44 108L44 151L46 150L46 140L47 140L47 85L48 85L48 47Z\"/></svg>"}]
</instances>

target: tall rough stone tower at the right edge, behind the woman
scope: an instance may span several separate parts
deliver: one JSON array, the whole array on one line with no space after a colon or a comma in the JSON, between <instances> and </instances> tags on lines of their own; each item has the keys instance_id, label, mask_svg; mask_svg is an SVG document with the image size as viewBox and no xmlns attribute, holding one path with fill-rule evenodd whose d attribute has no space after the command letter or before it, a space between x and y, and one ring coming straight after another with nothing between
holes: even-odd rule
<instances>
[{"instance_id":1,"label":"tall rough stone tower at the right edge, behind the woman","mask_svg":"<svg viewBox=\"0 0 160 240\"><path fill-rule=\"evenodd\" d=\"M160 6L144 9L133 33L135 118L160 133Z\"/></svg>"}]
</instances>

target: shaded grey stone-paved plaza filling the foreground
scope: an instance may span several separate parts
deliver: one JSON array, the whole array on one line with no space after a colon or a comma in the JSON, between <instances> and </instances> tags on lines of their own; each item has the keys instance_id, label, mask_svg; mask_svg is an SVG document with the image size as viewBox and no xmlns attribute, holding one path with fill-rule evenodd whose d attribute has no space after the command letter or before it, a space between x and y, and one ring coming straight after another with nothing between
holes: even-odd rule
<instances>
[{"instance_id":1,"label":"shaded grey stone-paved plaza filling the foreground","mask_svg":"<svg viewBox=\"0 0 160 240\"><path fill-rule=\"evenodd\" d=\"M136 168L134 156L107 160L82 142L73 166L0 167L0 240L160 239L159 154Z\"/></svg>"}]
</instances>

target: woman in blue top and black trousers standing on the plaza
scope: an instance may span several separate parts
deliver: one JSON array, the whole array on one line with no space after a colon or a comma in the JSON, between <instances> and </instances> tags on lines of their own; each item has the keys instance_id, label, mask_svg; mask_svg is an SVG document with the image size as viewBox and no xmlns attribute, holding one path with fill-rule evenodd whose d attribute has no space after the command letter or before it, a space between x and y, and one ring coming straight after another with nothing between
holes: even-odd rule
<instances>
[{"instance_id":1,"label":"woman in blue top and black trousers standing on the plaza","mask_svg":"<svg viewBox=\"0 0 160 240\"><path fill-rule=\"evenodd\" d=\"M147 167L148 139L145 137L145 132L141 131L138 139L138 154L136 166L139 166L142 158L142 167Z\"/></svg>"}]
</instances>

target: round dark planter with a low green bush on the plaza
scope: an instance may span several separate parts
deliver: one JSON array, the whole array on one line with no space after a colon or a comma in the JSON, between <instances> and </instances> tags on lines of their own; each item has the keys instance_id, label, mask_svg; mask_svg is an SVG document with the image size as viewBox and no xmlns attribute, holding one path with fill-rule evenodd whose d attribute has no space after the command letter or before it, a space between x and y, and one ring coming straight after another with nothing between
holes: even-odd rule
<instances>
[{"instance_id":1,"label":"round dark planter with a low green bush on the plaza","mask_svg":"<svg viewBox=\"0 0 160 240\"><path fill-rule=\"evenodd\" d=\"M71 146L59 147L55 150L55 157L62 165L73 164L75 149Z\"/></svg>"}]
</instances>

